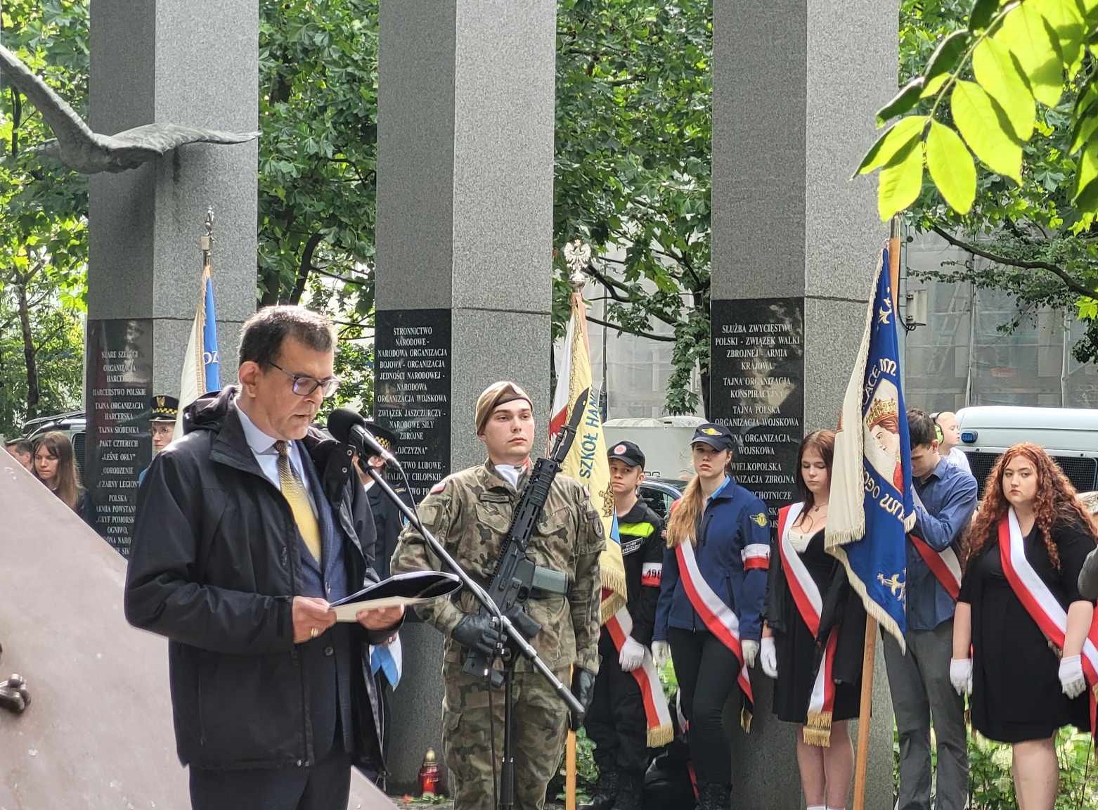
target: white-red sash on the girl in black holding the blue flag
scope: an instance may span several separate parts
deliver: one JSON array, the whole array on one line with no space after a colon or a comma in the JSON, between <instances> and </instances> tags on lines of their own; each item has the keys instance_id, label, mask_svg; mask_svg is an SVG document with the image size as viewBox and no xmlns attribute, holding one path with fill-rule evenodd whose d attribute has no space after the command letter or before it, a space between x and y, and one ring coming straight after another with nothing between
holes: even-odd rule
<instances>
[{"instance_id":1,"label":"white-red sash on the girl in black holding the blue flag","mask_svg":"<svg viewBox=\"0 0 1098 810\"><path fill-rule=\"evenodd\" d=\"M791 504L777 513L777 550L782 555L782 570L785 582L797 606L797 612L804 619L813 638L819 638L820 617L824 611L824 597L816 581L805 566L800 554L793 548L789 540L789 529L800 513L803 503ZM831 744L831 716L834 711L834 651L839 645L839 628L832 627L824 646L824 660L816 671L813 691L808 698L808 713L805 722L804 738L809 745L827 747Z\"/></svg>"}]
</instances>

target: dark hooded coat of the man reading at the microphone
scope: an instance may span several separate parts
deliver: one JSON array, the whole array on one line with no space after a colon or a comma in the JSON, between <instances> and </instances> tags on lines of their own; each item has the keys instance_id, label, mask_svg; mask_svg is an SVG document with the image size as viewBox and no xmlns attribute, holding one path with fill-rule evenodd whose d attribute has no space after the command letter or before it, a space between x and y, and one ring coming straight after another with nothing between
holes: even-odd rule
<instances>
[{"instance_id":1,"label":"dark hooded coat of the man reading at the microphone","mask_svg":"<svg viewBox=\"0 0 1098 810\"><path fill-rule=\"evenodd\" d=\"M359 664L351 667L355 762L378 773L380 713L368 643L391 630L349 625L293 643L301 541L289 505L248 447L234 395L228 387L188 408L187 435L154 458L137 496L125 612L135 627L169 639L179 758L209 768L323 758L326 741L314 746L310 706L321 698L304 684L315 683L316 662L332 655L321 645L343 639L343 654ZM312 428L302 445L335 516L349 586L376 581L367 551L373 518L350 448Z\"/></svg>"}]
</instances>

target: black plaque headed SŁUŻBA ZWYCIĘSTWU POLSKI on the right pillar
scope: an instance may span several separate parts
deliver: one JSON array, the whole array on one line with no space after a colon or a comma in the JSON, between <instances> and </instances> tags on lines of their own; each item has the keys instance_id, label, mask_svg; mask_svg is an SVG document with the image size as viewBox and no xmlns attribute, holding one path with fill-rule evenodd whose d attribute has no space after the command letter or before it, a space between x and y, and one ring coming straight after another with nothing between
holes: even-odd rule
<instances>
[{"instance_id":1,"label":"black plaque headed S\u0141U\u017bBA ZWYCI\u0118STWU POLSKI on the right pillar","mask_svg":"<svg viewBox=\"0 0 1098 810\"><path fill-rule=\"evenodd\" d=\"M738 437L736 480L775 520L797 497L804 438L804 300L714 301L709 410Z\"/></svg>"}]
</instances>

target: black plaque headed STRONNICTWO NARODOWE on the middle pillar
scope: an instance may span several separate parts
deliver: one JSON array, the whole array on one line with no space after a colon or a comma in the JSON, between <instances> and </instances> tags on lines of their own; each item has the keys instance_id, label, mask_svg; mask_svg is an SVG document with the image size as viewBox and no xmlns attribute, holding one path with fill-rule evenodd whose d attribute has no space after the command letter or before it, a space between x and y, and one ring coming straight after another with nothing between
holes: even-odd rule
<instances>
[{"instance_id":1,"label":"black plaque headed STRONNICTWO NARODOWE on the middle pillar","mask_svg":"<svg viewBox=\"0 0 1098 810\"><path fill-rule=\"evenodd\" d=\"M450 474L450 311L381 311L374 323L374 417L397 434L418 503Z\"/></svg>"}]
</instances>

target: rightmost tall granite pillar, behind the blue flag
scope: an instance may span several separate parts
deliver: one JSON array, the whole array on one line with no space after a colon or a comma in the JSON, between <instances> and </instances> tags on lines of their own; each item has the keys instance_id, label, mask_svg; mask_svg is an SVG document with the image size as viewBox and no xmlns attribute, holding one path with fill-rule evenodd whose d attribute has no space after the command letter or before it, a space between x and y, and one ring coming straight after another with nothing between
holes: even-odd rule
<instances>
[{"instance_id":1,"label":"rightmost tall granite pillar, behind the blue flag","mask_svg":"<svg viewBox=\"0 0 1098 810\"><path fill-rule=\"evenodd\" d=\"M895 0L714 1L712 416L744 436L739 473L772 514L792 499L805 432L838 421L887 236L875 185L848 178L895 92L897 16ZM758 670L752 684L733 805L802 808L794 728L770 713ZM865 806L890 807L882 661L871 736Z\"/></svg>"}]
</instances>

